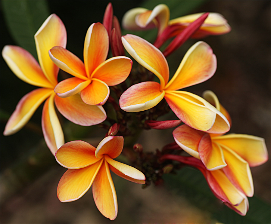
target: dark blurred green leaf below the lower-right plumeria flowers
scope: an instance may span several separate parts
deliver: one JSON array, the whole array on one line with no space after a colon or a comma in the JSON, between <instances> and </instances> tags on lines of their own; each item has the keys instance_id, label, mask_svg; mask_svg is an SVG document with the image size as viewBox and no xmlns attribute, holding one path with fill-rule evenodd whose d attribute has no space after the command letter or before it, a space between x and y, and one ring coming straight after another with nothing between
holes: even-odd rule
<instances>
[{"instance_id":1,"label":"dark blurred green leaf below the lower-right plumeria flowers","mask_svg":"<svg viewBox=\"0 0 271 224\"><path fill-rule=\"evenodd\" d=\"M271 207L257 197L249 198L246 216L229 209L211 192L200 171L184 167L177 174L164 174L166 186L175 194L185 196L192 204L209 211L213 218L222 223L270 223Z\"/></svg>"}]
</instances>

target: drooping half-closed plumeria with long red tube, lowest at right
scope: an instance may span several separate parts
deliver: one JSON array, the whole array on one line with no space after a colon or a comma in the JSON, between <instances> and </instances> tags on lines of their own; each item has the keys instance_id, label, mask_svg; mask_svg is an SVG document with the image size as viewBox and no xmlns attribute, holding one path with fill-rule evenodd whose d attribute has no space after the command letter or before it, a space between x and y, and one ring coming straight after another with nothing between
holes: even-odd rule
<instances>
[{"instance_id":1,"label":"drooping half-closed plumeria with long red tube, lowest at right","mask_svg":"<svg viewBox=\"0 0 271 224\"><path fill-rule=\"evenodd\" d=\"M248 198L231 182L223 170L207 170L200 160L192 156L166 154L160 158L161 161L165 159L176 160L199 169L216 198L241 216L246 215L249 208Z\"/></svg>"}]
</instances>

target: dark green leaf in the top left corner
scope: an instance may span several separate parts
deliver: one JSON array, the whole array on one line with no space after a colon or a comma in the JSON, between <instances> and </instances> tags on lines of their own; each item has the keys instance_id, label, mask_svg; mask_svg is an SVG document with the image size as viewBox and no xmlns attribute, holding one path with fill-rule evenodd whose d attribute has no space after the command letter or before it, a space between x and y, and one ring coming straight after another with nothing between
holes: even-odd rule
<instances>
[{"instance_id":1,"label":"dark green leaf in the top left corner","mask_svg":"<svg viewBox=\"0 0 271 224\"><path fill-rule=\"evenodd\" d=\"M36 59L34 35L49 16L47 1L2 1L5 21L14 41Z\"/></svg>"}]
</instances>

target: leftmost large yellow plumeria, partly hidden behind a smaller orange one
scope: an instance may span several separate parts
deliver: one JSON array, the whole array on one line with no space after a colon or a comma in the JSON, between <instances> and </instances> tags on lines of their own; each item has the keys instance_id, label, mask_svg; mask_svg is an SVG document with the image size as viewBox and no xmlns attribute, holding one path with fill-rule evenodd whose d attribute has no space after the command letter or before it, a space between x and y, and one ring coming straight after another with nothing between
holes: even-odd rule
<instances>
[{"instance_id":1,"label":"leftmost large yellow plumeria, partly hidden behind a smaller orange one","mask_svg":"<svg viewBox=\"0 0 271 224\"><path fill-rule=\"evenodd\" d=\"M51 14L34 37L40 64L28 51L18 46L6 45L2 50L4 60L18 78L41 87L26 94L19 101L6 124L4 135L19 131L39 105L47 99L42 111L42 132L48 148L55 155L58 148L64 144L55 105L68 120L84 126L101 123L106 119L106 113L101 106L85 104L78 95L62 99L54 92L58 84L59 68L51 61L48 51L54 46L66 47L67 33L60 18Z\"/></svg>"}]
</instances>

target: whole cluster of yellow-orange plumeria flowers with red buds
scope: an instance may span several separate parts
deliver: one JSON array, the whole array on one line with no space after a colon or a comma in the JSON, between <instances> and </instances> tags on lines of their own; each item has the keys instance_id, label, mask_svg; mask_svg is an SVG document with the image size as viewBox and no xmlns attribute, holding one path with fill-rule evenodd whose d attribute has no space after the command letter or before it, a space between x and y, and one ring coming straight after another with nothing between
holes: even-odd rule
<instances>
[{"instance_id":1,"label":"whole cluster of yellow-orange plumeria flowers with red buds","mask_svg":"<svg viewBox=\"0 0 271 224\"><path fill-rule=\"evenodd\" d=\"M45 101L42 111L45 142L56 161L68 168L57 188L61 202L79 199L92 186L98 210L105 217L115 219L117 195L110 170L126 180L147 186L149 182L145 176L149 173L140 160L153 156L142 156L139 144L131 147L141 155L133 163L142 172L115 161L123 150L123 136L133 136L144 128L167 129L183 123L173 131L176 144L167 148L183 149L189 156L165 153L166 150L157 152L151 163L151 166L160 167L155 183L161 180L163 173L173 170L172 165L165 168L164 161L179 161L199 169L213 194L228 207L240 215L248 211L247 197L254 194L250 167L268 159L264 139L225 134L232 122L216 95L205 91L200 97L181 90L208 80L216 72L216 56L207 43L198 41L192 45L170 80L166 60L188 38L221 35L231 28L217 13L193 14L173 20L169 20L169 15L169 8L164 4L153 10L131 9L124 15L124 29L157 27L157 38L151 44L132 34L121 37L120 25L110 3L103 24L93 23L87 30L84 62L66 49L66 29L55 14L45 20L34 36L39 63L18 46L7 45L2 50L4 60L18 78L40 87L20 100L6 124L4 135L19 131ZM162 53L158 48L169 38L173 40ZM114 57L107 59L110 47ZM132 60L124 56L124 48L138 62L137 69L132 70ZM74 77L58 82L59 69ZM154 81L155 76L159 82ZM112 104L115 119L107 118L105 103ZM96 148L84 141L65 143L55 106L75 124L101 124L108 130L106 137ZM170 110L179 120L157 121ZM133 116L130 112L138 113Z\"/></svg>"}]
</instances>

